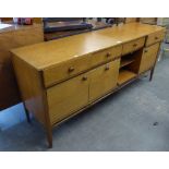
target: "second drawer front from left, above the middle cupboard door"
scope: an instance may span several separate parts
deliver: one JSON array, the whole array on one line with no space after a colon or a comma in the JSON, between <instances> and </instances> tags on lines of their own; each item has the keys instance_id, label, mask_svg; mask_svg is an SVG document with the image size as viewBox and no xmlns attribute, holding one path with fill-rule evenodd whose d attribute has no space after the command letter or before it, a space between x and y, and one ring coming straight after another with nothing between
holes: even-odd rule
<instances>
[{"instance_id":1,"label":"second drawer front from left, above the middle cupboard door","mask_svg":"<svg viewBox=\"0 0 169 169\"><path fill-rule=\"evenodd\" d=\"M92 55L92 67L112 60L120 57L122 52L122 45L111 47L101 51L94 52Z\"/></svg>"}]
</instances>

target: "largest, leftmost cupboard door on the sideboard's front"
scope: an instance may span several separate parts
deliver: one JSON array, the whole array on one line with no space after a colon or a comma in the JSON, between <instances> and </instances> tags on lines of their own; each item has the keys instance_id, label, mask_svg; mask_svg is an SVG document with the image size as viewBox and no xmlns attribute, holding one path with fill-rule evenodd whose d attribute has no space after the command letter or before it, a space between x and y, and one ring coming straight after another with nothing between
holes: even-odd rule
<instances>
[{"instance_id":1,"label":"largest, leftmost cupboard door on the sideboard's front","mask_svg":"<svg viewBox=\"0 0 169 169\"><path fill-rule=\"evenodd\" d=\"M82 74L47 89L49 117L55 124L88 102L88 74Z\"/></svg>"}]
</instances>

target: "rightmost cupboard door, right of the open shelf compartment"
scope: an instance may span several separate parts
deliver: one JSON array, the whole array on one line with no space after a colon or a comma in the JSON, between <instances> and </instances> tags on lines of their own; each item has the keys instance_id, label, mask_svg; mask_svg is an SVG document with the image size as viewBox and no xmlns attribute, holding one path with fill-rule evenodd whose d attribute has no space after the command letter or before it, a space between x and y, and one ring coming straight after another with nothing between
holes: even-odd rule
<instances>
[{"instance_id":1,"label":"rightmost cupboard door, right of the open shelf compartment","mask_svg":"<svg viewBox=\"0 0 169 169\"><path fill-rule=\"evenodd\" d=\"M140 73L148 71L152 67L154 67L158 49L159 49L159 43L150 47L144 48L141 59Z\"/></svg>"}]
</instances>

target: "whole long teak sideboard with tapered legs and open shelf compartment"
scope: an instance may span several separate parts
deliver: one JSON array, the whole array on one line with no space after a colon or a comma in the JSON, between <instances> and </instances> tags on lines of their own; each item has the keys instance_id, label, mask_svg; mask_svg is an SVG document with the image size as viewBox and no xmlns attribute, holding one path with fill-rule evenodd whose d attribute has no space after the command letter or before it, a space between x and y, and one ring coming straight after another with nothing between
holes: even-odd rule
<instances>
[{"instance_id":1,"label":"whole long teak sideboard with tapered legs and open shelf compartment","mask_svg":"<svg viewBox=\"0 0 169 169\"><path fill-rule=\"evenodd\" d=\"M120 89L153 76L165 28L131 23L12 50L25 105L47 131Z\"/></svg>"}]
</instances>

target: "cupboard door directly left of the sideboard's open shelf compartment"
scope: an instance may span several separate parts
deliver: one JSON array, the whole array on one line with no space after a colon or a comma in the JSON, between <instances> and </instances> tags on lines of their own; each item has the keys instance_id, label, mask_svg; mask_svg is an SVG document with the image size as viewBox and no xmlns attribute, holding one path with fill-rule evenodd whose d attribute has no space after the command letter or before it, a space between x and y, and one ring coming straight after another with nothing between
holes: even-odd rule
<instances>
[{"instance_id":1,"label":"cupboard door directly left of the sideboard's open shelf compartment","mask_svg":"<svg viewBox=\"0 0 169 169\"><path fill-rule=\"evenodd\" d=\"M117 86L120 59L89 72L89 101L93 101Z\"/></svg>"}]
</instances>

